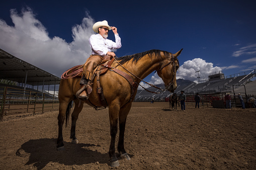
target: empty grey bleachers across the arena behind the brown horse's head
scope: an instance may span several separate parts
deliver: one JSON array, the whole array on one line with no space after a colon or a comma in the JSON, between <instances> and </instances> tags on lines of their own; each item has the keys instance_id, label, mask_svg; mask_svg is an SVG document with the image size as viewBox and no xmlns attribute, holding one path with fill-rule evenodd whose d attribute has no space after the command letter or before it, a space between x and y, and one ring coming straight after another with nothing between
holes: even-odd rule
<instances>
[{"instance_id":1,"label":"empty grey bleachers across the arena behind the brown horse's head","mask_svg":"<svg viewBox=\"0 0 256 170\"><path fill-rule=\"evenodd\" d=\"M175 90L175 93L180 94L180 91L183 90L185 91L186 95L195 95L196 93L200 93L200 94L221 94L221 93L225 93L225 92L231 92L233 91L233 89L236 89L240 86L242 86L244 88L243 85L250 83L250 85L246 85L246 88L248 88L248 92L249 93L253 93L255 94L255 85L256 85L256 81L254 81L253 83L251 83L251 79L255 76L255 71L251 71L249 72L249 74L245 74L244 75L234 75L232 77L232 75L223 78L223 79L219 79L219 80L212 80L212 81L205 81L202 83L195 83L189 80L182 80L182 79L178 79L177 80L177 89ZM186 81L186 82L184 82ZM163 84L159 84L156 85L157 87L160 87L161 89L164 89L164 85ZM241 88L242 88L241 87ZM154 88L154 87L149 87L147 88L147 90L153 91L153 92L161 92L160 90ZM237 89L237 91L239 91L241 89ZM155 99L157 98L158 100L162 101L164 98L168 97L170 94L170 92L165 91L165 92L161 92L159 94L152 94L147 92L146 90L138 90L136 96L135 96L135 101L136 100L147 100L147 99L151 99L151 97L154 97Z\"/></svg>"}]
</instances>

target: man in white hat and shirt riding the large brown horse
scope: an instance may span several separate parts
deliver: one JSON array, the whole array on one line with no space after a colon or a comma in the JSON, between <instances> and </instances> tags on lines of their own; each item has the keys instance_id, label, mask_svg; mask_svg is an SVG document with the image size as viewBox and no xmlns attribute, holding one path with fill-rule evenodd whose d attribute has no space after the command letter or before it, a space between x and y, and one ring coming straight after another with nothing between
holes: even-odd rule
<instances>
[{"instance_id":1,"label":"man in white hat and shirt riding the large brown horse","mask_svg":"<svg viewBox=\"0 0 256 170\"><path fill-rule=\"evenodd\" d=\"M119 49L122 46L121 38L117 33L117 28L110 27L107 21L95 23L93 30L98 34L92 35L89 39L89 43L92 48L92 55L83 65L83 75L80 81L81 89L77 92L78 98L84 100L87 100L89 98L89 94L92 92L91 81L94 69L99 64L103 63L103 58L105 56L115 57L115 53L111 52L111 50ZM115 34L116 42L107 39L110 30Z\"/></svg>"}]
</instances>

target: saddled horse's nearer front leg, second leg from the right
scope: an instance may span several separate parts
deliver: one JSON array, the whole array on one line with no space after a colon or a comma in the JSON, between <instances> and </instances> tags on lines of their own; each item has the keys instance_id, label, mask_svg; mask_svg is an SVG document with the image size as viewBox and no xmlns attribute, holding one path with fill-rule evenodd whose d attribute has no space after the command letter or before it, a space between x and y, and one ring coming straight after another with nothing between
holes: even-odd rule
<instances>
[{"instance_id":1,"label":"saddled horse's nearer front leg, second leg from the right","mask_svg":"<svg viewBox=\"0 0 256 170\"><path fill-rule=\"evenodd\" d=\"M109 156L112 167L119 166L119 162L117 156L115 154L115 142L116 142L116 134L118 127L118 114L119 114L120 106L119 104L115 104L114 102L109 105L109 120L110 120L110 135L111 142L109 146Z\"/></svg>"}]
</instances>

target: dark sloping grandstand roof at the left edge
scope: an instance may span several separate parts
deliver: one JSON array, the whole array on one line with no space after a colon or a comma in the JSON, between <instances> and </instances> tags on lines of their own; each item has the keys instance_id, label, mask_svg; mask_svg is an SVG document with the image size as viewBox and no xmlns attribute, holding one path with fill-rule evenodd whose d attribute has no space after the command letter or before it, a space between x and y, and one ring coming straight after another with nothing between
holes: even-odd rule
<instances>
[{"instance_id":1,"label":"dark sloping grandstand roof at the left edge","mask_svg":"<svg viewBox=\"0 0 256 170\"><path fill-rule=\"evenodd\" d=\"M29 85L59 84L60 78L0 49L0 79Z\"/></svg>"}]
</instances>

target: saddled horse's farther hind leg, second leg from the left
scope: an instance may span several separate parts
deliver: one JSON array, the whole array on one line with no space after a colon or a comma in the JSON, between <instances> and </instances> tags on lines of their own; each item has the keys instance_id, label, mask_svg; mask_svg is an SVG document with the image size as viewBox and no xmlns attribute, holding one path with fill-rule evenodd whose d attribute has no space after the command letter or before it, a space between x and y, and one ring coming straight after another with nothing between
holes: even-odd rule
<instances>
[{"instance_id":1,"label":"saddled horse's farther hind leg, second leg from the left","mask_svg":"<svg viewBox=\"0 0 256 170\"><path fill-rule=\"evenodd\" d=\"M77 144L78 140L75 137L75 123L76 123L76 120L78 118L79 113L82 110L83 102L80 103L79 107L78 107L78 105L79 105L79 100L78 99L75 99L74 103L75 103L75 106L74 106L74 110L73 110L73 113L72 113L72 123L71 123L70 139L72 139L71 143Z\"/></svg>"}]
</instances>

